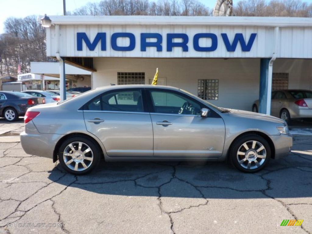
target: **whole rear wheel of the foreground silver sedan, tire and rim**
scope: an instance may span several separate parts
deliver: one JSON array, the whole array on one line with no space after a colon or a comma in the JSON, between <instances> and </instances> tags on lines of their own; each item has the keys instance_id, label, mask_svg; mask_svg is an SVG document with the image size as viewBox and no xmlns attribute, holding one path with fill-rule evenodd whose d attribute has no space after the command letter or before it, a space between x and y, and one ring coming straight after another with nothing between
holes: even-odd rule
<instances>
[{"instance_id":1,"label":"whole rear wheel of the foreground silver sedan, tire and rim","mask_svg":"<svg viewBox=\"0 0 312 234\"><path fill-rule=\"evenodd\" d=\"M90 139L71 137L61 145L58 157L69 173L82 175L91 172L100 161L101 149Z\"/></svg>"}]
</instances>

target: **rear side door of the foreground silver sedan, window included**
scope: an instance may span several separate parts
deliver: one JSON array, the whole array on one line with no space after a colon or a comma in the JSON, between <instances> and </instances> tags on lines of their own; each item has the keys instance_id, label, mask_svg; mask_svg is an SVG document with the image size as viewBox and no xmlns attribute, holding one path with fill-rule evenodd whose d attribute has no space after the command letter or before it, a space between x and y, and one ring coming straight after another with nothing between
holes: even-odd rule
<instances>
[{"instance_id":1,"label":"rear side door of the foreground silver sedan, window included","mask_svg":"<svg viewBox=\"0 0 312 234\"><path fill-rule=\"evenodd\" d=\"M83 107L87 130L109 157L153 157L153 128L141 89L105 92Z\"/></svg>"}]
</instances>

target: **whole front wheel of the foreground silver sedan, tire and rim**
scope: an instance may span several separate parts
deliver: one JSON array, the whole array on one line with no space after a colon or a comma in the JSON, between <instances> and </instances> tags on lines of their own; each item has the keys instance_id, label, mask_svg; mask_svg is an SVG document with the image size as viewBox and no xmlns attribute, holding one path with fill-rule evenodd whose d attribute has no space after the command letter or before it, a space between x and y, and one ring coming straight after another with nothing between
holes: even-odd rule
<instances>
[{"instance_id":1,"label":"whole front wheel of the foreground silver sedan, tire and rim","mask_svg":"<svg viewBox=\"0 0 312 234\"><path fill-rule=\"evenodd\" d=\"M238 170L253 173L266 166L271 158L271 148L263 137L249 134L235 140L230 158Z\"/></svg>"}]
</instances>

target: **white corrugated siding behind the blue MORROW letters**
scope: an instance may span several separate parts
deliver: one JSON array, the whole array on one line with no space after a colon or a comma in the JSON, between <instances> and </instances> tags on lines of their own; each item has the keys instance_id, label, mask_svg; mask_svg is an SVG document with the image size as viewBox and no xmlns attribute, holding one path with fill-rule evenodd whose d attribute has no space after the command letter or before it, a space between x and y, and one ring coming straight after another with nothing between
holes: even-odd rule
<instances>
[{"instance_id":1,"label":"white corrugated siding behind the blue MORROW letters","mask_svg":"<svg viewBox=\"0 0 312 234\"><path fill-rule=\"evenodd\" d=\"M106 51L101 51L100 43L94 51L86 48L77 51L77 32L85 32L92 42L98 32L106 32ZM133 51L114 51L110 46L110 37L115 32L131 32L135 35L136 45ZM163 51L157 52L155 47L148 47L146 52L140 51L141 33L160 33L163 36ZM188 52L175 47L167 52L167 33L186 33L189 37ZM199 52L193 48L193 36L197 33L214 33L218 37L218 47L213 52ZM232 42L236 33L242 33L248 42L251 33L257 33L250 52L241 51L238 43L235 52L228 52L223 43L221 33L227 33ZM271 57L273 53L274 27L259 26L183 26L183 25L60 25L60 55L66 57L146 57L146 58L262 58ZM56 55L55 27L47 28L47 55ZM312 58L312 27L280 27L277 57L280 58ZM201 39L201 46L210 46L210 39ZM129 39L119 38L119 46L128 46Z\"/></svg>"}]
</instances>

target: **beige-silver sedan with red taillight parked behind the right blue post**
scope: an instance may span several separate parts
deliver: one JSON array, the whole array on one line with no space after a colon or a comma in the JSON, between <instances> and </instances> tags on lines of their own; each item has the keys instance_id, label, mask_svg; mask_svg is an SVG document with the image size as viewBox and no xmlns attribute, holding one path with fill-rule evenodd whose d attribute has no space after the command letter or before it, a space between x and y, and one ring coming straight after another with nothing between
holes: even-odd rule
<instances>
[{"instance_id":1,"label":"beige-silver sedan with red taillight parked behind the right blue post","mask_svg":"<svg viewBox=\"0 0 312 234\"><path fill-rule=\"evenodd\" d=\"M259 100L252 105L252 111L258 112ZM312 91L277 90L272 92L271 115L285 120L312 118Z\"/></svg>"}]
</instances>

